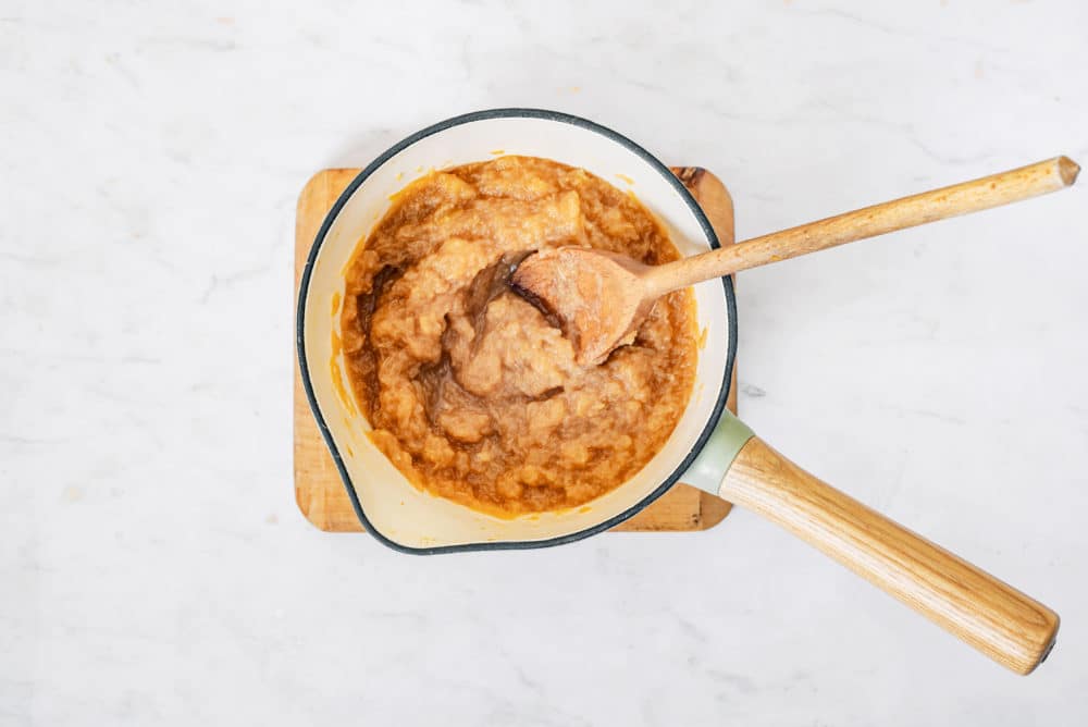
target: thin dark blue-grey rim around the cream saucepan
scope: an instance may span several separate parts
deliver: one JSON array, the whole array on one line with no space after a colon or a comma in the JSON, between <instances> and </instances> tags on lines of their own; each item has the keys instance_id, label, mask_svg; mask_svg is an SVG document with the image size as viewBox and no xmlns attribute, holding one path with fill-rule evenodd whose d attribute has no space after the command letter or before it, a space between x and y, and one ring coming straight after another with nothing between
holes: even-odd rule
<instances>
[{"instance_id":1,"label":"thin dark blue-grey rim around the cream saucepan","mask_svg":"<svg viewBox=\"0 0 1088 727\"><path fill-rule=\"evenodd\" d=\"M307 257L306 266L302 269L302 276L298 288L298 308L296 312L296 326L295 326L295 346L298 353L298 366L302 379L302 389L306 392L306 398L310 403L310 410L313 412L313 417L318 422L318 429L321 431L321 436L325 441L325 445L329 447L332 454L333 461L336 465L336 469L341 475L341 480L344 482L344 488L347 490L347 495L351 501L351 507L355 509L356 516L362 523L362 527L378 539L379 542L392 547L395 551L401 553L409 553L413 555L435 555L440 553L463 553L468 551L502 551L502 550L528 550L536 547L552 547L555 545L562 545L566 543L572 543L591 535L595 535L598 532L603 532L610 528L616 527L620 522L633 517L638 513L645 509L651 503L660 497L665 492L671 488L680 477L687 471L687 469L694 461L695 457L703 449L710 434L714 432L714 428L717 426L718 420L721 418L721 412L726 406L726 399L729 397L729 390L732 384L732 371L733 371L733 359L737 354L737 298L733 293L733 282L730 278L721 279L722 291L726 296L726 312L728 316L728 352L726 355L726 366L722 372L724 381L719 389L719 395L717 402L715 403L714 410L710 417L707 419L703 431L700 433L698 438L695 440L694 446L684 456L684 458L673 469L672 473L669 475L663 482L650 494L642 497L638 503L623 510L622 513L615 515L602 522L598 522L589 528L584 528L573 533L568 533L565 535L559 535L556 538L549 538L546 540L534 540L534 541L496 541L496 542L477 542L477 543L460 543L457 545L438 545L429 547L411 547L398 543L390 538L383 535L368 519L367 514L359 502L359 497L356 494L355 485L351 482L351 477L348 475L347 468L344 465L344 460L341 456L339 449L336 446L336 442L333 439L332 432L329 430L325 423L325 417L321 412L321 407L318 405L317 396L313 392L313 385L310 382L310 367L306 358L306 345L305 345L305 326L306 326L306 303L309 294L310 287L310 274L313 270L313 263L318 258L318 254L321 251L322 244L325 241L325 236L329 230L332 227L333 222L336 220L341 210L350 199L351 195L356 189L359 188L379 168L382 167L392 157L399 153L404 149L416 144L420 139L426 138L445 130L452 128L454 126L459 126L461 124L468 124L478 121L486 121L491 119L544 119L547 121L554 121L564 124L571 124L574 126L580 126L588 131L594 132L604 136L613 141L620 144L626 147L629 151L641 157L645 162L647 162L654 170L656 170L680 195L684 204L691 209L692 213L695 215L698 225L702 227L703 234L706 236L707 242L712 248L720 247L718 242L718 236L714 232L714 227L710 225L709 220L707 220L706 214L704 214L698 202L683 185L683 183L677 178L677 176L666 167L660 160L654 157L652 153L646 151L640 145L635 144L628 137L619 134L618 132L608 128L607 126L602 126L601 124L583 119L581 116L571 115L569 113L564 113L561 111L548 111L544 109L527 109L527 108L503 108L503 109L487 109L483 111L474 111L471 113L465 113L458 116L453 116L452 119L446 119L436 124L428 126L419 132L416 132L411 136L394 144L392 147L383 151L374 161L370 162L366 169L363 169L359 174L351 181L347 188L341 194L336 204L333 205L332 209L329 210L329 214L325 215L324 222L321 224L321 229L318 231L318 235L313 241L313 245L310 248L310 254Z\"/></svg>"}]
</instances>

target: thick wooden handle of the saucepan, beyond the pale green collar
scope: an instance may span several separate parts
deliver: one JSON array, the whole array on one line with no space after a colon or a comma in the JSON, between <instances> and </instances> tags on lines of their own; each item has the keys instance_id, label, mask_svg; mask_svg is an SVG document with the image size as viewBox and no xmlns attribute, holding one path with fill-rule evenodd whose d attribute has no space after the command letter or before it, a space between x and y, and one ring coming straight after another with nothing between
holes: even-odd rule
<instances>
[{"instance_id":1,"label":"thick wooden handle of the saucepan, beyond the pale green collar","mask_svg":"<svg viewBox=\"0 0 1088 727\"><path fill-rule=\"evenodd\" d=\"M1054 644L1058 614L804 471L753 436L720 495L816 546L1018 674Z\"/></svg>"}]
</instances>

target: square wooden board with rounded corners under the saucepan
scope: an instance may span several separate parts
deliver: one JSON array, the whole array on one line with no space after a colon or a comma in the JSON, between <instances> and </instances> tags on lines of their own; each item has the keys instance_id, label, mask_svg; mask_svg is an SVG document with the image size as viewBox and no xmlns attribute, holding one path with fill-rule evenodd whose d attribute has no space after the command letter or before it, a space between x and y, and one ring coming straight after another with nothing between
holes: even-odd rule
<instances>
[{"instance_id":1,"label":"square wooden board with rounded corners under the saucepan","mask_svg":"<svg viewBox=\"0 0 1088 727\"><path fill-rule=\"evenodd\" d=\"M672 171L691 189L722 245L733 239L733 200L714 174L700 167L675 167ZM298 281L318 230L336 198L359 173L357 169L326 169L306 183L298 197L295 218L295 303ZM737 367L727 402L737 414ZM326 532L362 532L351 501L344 490L332 455L318 431L302 391L295 360L295 502L314 526ZM706 530L721 522L731 505L702 490L678 483L650 507L614 528L627 531Z\"/></svg>"}]
</instances>

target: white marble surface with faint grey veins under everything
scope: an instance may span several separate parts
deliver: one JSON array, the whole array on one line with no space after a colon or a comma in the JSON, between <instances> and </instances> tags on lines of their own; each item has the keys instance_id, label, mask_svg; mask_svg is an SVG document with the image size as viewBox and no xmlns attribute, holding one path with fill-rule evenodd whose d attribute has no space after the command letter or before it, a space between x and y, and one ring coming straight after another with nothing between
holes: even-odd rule
<instances>
[{"instance_id":1,"label":"white marble surface with faint grey veins under everything","mask_svg":"<svg viewBox=\"0 0 1088 727\"><path fill-rule=\"evenodd\" d=\"M740 281L744 417L1059 611L1028 678L747 513L417 558L296 510L322 167L556 108L744 237L1088 159L1078 0L700 4L0 3L0 724L1088 723L1084 184Z\"/></svg>"}]
</instances>

